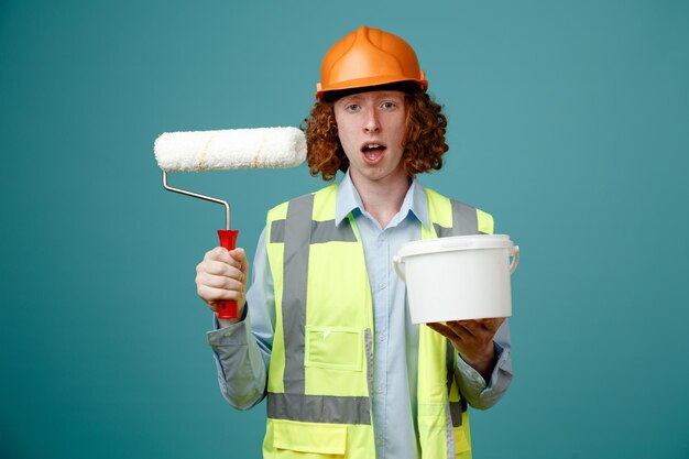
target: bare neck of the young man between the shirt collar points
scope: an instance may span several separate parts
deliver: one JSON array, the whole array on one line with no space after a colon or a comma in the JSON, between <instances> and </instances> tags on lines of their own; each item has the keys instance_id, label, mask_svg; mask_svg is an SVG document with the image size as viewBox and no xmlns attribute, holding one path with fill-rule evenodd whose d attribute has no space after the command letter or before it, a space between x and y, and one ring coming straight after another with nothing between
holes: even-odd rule
<instances>
[{"instance_id":1,"label":"bare neck of the young man between the shirt collar points","mask_svg":"<svg viewBox=\"0 0 689 459\"><path fill-rule=\"evenodd\" d=\"M378 220L381 228L386 228L390 220L400 211L412 185L412 178L407 175L385 182L358 181L353 176L351 179L361 197L363 208Z\"/></svg>"}]
</instances>

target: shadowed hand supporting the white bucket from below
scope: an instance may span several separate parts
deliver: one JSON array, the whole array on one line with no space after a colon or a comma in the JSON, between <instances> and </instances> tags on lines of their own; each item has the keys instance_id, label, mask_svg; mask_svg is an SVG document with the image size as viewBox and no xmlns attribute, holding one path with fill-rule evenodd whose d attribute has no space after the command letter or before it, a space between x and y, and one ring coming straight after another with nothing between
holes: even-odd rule
<instances>
[{"instance_id":1,"label":"shadowed hand supporting the white bucket from below","mask_svg":"<svg viewBox=\"0 0 689 459\"><path fill-rule=\"evenodd\" d=\"M477 370L488 382L495 365L493 338L505 321L504 317L493 319L455 320L445 324L427 324L452 342L462 359Z\"/></svg>"}]
</instances>

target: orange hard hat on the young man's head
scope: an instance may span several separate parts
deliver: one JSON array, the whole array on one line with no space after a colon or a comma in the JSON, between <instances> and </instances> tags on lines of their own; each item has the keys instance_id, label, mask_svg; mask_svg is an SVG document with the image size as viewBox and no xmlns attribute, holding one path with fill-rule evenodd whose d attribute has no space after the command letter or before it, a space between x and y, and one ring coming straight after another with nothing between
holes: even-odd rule
<instances>
[{"instance_id":1,"label":"orange hard hat on the young man's head","mask_svg":"<svg viewBox=\"0 0 689 459\"><path fill-rule=\"evenodd\" d=\"M428 88L426 74L407 42L380 29L361 26L337 42L322 59L316 99L325 92L414 81Z\"/></svg>"}]
</instances>

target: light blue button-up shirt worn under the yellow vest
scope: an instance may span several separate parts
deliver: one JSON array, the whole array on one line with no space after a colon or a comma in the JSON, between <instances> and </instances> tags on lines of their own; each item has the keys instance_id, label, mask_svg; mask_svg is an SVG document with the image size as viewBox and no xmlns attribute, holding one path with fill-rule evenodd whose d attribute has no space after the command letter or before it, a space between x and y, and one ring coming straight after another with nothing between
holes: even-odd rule
<instances>
[{"instance_id":1,"label":"light blue button-up shirt worn under the yellow vest","mask_svg":"<svg viewBox=\"0 0 689 459\"><path fill-rule=\"evenodd\" d=\"M365 253L373 299L375 354L373 359L373 427L378 459L417 459L416 425L418 325L412 324L405 284L394 272L392 258L404 242L420 239L428 226L426 192L414 179L400 211L386 228L365 211L346 174L337 193L336 223L354 217ZM267 264L265 231L259 239L253 282L247 293L247 317L239 324L208 332L215 351L218 381L225 398L240 409L263 400L275 329L273 278ZM512 380L507 321L495 335L497 363L489 383L461 358L456 375L467 402L485 409L500 400Z\"/></svg>"}]
</instances>

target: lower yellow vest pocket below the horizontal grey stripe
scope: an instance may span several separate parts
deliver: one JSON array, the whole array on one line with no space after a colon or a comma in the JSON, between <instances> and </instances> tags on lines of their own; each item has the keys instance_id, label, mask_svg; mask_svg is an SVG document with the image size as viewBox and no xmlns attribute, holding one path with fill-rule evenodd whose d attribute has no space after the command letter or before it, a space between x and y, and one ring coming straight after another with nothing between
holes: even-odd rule
<instances>
[{"instance_id":1,"label":"lower yellow vest pocket below the horizontal grey stripe","mask_svg":"<svg viewBox=\"0 0 689 459\"><path fill-rule=\"evenodd\" d=\"M344 456L347 425L273 419L273 447L276 450L285 450L284 452ZM280 451L278 456L282 457Z\"/></svg>"}]
</instances>

